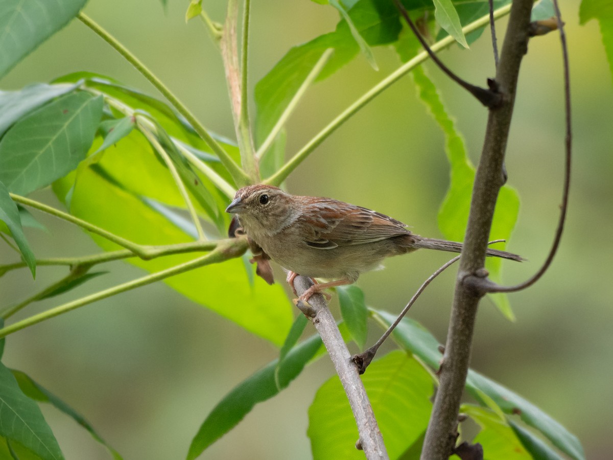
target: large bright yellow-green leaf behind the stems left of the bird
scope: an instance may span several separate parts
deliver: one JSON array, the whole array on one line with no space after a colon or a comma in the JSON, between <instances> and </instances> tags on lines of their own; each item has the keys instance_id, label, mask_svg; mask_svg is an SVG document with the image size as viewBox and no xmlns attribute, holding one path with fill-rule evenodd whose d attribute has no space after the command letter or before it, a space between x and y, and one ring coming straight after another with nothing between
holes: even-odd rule
<instances>
[{"instance_id":1,"label":"large bright yellow-green leaf behind the stems left of the bird","mask_svg":"<svg viewBox=\"0 0 613 460\"><path fill-rule=\"evenodd\" d=\"M75 183L77 175L79 179ZM147 245L191 240L144 199L183 205L166 167L155 158L137 131L107 148L95 167L83 162L76 174L58 180L54 191L64 200L73 186L70 211L116 235ZM216 232L212 227L208 230ZM118 249L102 237L93 236L93 239L105 250ZM133 258L130 263L148 272L158 272L196 256L183 254L150 261ZM291 304L283 288L268 286L259 277L250 285L240 258L177 275L166 283L194 302L277 345L283 343L292 323Z\"/></svg>"}]
</instances>

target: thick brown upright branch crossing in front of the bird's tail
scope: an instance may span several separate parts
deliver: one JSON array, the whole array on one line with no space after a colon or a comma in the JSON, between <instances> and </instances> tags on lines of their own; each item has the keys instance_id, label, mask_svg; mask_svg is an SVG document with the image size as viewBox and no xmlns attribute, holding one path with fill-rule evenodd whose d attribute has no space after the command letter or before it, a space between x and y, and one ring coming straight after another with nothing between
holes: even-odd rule
<instances>
[{"instance_id":1,"label":"thick brown upright branch crossing in front of the bird's tail","mask_svg":"<svg viewBox=\"0 0 613 460\"><path fill-rule=\"evenodd\" d=\"M440 386L421 454L424 460L446 460L454 449L460 398L468 373L477 307L482 296L482 293L465 283L465 278L484 273L485 250L494 208L498 192L505 181L504 151L511 125L519 68L527 52L531 9L532 0L512 2L496 75L503 101L497 109L489 110L440 369Z\"/></svg>"}]
</instances>

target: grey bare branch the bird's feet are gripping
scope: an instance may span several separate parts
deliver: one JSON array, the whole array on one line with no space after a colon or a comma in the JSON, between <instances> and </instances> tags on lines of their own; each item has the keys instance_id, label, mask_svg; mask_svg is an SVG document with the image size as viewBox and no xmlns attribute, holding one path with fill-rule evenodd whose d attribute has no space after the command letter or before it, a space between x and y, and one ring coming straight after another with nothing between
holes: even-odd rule
<instances>
[{"instance_id":1,"label":"grey bare branch the bird's feet are gripping","mask_svg":"<svg viewBox=\"0 0 613 460\"><path fill-rule=\"evenodd\" d=\"M298 276L294 280L294 287L299 295L311 286L313 286L313 282L310 278ZM306 311L305 314L311 318L319 335L321 335L341 384L345 388L353 416L356 418L357 431L360 435L360 448L364 450L368 460L388 459L383 437L381 431L379 431L373 408L368 401L364 384L360 380L355 364L351 361L349 350L326 301L324 301L324 296L315 294L309 299L309 304L311 308L303 310L303 312Z\"/></svg>"}]
</instances>

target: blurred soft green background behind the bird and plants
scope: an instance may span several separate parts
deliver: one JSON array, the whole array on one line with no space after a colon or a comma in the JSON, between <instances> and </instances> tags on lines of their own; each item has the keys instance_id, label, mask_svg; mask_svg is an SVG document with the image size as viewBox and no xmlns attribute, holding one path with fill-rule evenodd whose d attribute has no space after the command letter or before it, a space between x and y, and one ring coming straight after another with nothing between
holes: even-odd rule
<instances>
[{"instance_id":1,"label":"blurred soft green background behind the bird and plants","mask_svg":"<svg viewBox=\"0 0 613 460\"><path fill-rule=\"evenodd\" d=\"M225 2L205 2L223 20ZM186 0L91 0L85 12L128 46L186 102L205 126L234 137L221 60L202 25L185 24ZM516 323L482 302L472 367L517 391L557 418L584 444L587 458L610 458L613 424L613 282L607 270L613 243L613 91L595 21L578 25L579 2L562 1L571 58L574 165L562 247L546 276L511 295ZM334 28L335 10L313 2L253 2L251 88L294 44ZM505 21L498 26L503 31ZM313 86L288 126L288 152L398 66L394 51L375 48L380 71L362 56ZM489 40L442 58L462 77L484 84L493 75ZM427 65L466 137L474 161L482 144L485 109ZM111 75L155 90L79 21L48 40L0 81L3 90L47 82L74 71ZM506 264L508 283L524 280L549 250L560 204L563 155L562 63L557 34L533 39L520 74L509 139L509 183L522 197L511 251L529 259ZM424 236L438 237L438 206L448 182L440 129L428 117L410 77L359 112L321 145L287 181L292 193L332 196L392 215ZM51 193L35 194L57 205ZM38 257L95 253L77 228L36 214L50 232L28 230ZM15 255L0 245L0 259ZM399 312L447 255L418 251L390 259L386 270L359 281L367 303ZM77 292L32 305L17 319L67 299L137 277L122 263ZM609 268L607 268L609 267ZM441 342L451 305L453 270L441 276L410 315ZM39 267L36 285L59 268ZM280 278L282 279L282 278ZM34 289L25 270L0 280L2 304ZM203 289L206 288L203 280ZM288 308L291 308L288 302ZM257 315L257 312L254 312ZM307 328L312 332L311 329ZM371 331L374 340L379 331ZM158 284L97 302L7 339L7 366L23 370L88 418L126 459L185 458L189 442L216 402L278 355L272 345ZM307 408L332 375L321 359L272 401L205 452L211 459L308 459ZM67 459L109 458L74 421L43 407Z\"/></svg>"}]
</instances>

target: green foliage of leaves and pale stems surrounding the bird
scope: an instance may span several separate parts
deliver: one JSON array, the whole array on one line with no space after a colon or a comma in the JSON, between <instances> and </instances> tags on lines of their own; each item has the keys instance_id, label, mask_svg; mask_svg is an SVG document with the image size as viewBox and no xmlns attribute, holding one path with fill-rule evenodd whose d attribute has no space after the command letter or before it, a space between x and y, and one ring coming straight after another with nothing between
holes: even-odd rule
<instances>
[{"instance_id":1,"label":"green foliage of leaves and pale stems surrounding the bird","mask_svg":"<svg viewBox=\"0 0 613 460\"><path fill-rule=\"evenodd\" d=\"M268 286L256 276L255 267L244 255L245 239L226 237L230 220L224 209L242 181L283 183L338 126L402 75L413 71L419 96L444 133L451 166L439 225L449 239L462 239L474 167L436 86L424 69L417 67L426 58L425 53L408 36L392 2L319 1L328 3L340 15L335 30L290 48L257 82L253 132L250 125L241 125L244 114L242 118L236 117L237 142L200 125L135 56L79 13L85 2L54 0L44 5L26 2L23 8L21 3L5 2L0 15L0 29L4 32L0 36L3 50L0 76L72 18L79 17L148 75L170 104L112 77L91 72L77 72L50 84L0 93L0 231L9 245L15 242L15 250L22 259L0 266L0 275L25 266L34 275L37 263L53 263L34 256L23 232L23 226L32 219L18 205L51 213L86 229L103 250L99 255L58 263L68 266L69 274L17 307L6 307L2 319L32 302L69 292L104 274L89 270L105 261L125 259L150 274L13 323L0 329L0 336L96 299L164 279L197 304L281 347L278 359L236 386L205 418L188 458L199 456L236 426L254 405L280 393L308 362L323 353L319 337L299 341L307 321L299 315L292 326L291 302L280 285ZM584 0L581 20L600 21L609 62L613 62L613 16L605 3ZM468 3L403 0L403 4L412 17L425 21L428 35L437 38L438 42L432 45L435 50L455 42L468 47L482 33L489 11L488 2L479 0ZM509 0L494 4L497 17L509 10ZM544 15L550 5L541 0L535 12ZM229 8L229 15L231 11ZM202 19L213 39L227 32L227 25L222 30L208 18L201 2L192 0L186 19L196 17ZM31 33L31 25L36 33ZM242 56L246 56L248 37L243 38ZM279 120L287 120L307 86L313 80L332 77L360 53L376 69L373 48L382 45L393 45L404 64L285 161L286 132ZM332 55L327 52L329 49L333 50ZM226 65L229 71L240 73L240 69L232 67L232 59L227 59ZM240 100L240 94L232 96ZM252 138L257 148L251 161L259 163L262 176L244 164L245 151L237 147L251 145ZM49 185L65 210L52 209L25 197ZM505 187L498 201L492 238L508 239L518 213L517 192ZM500 261L492 261L490 269L495 277L500 277ZM364 293L357 286L339 288L337 292L345 337L358 347L364 348L367 342L368 315L381 326L393 321L389 313L368 310ZM495 302L504 315L512 318L506 297L498 296ZM401 323L395 340L403 351L394 351L376 361L364 381L391 456L418 458L431 408L429 398L436 385L433 370L440 359L438 342L410 320ZM0 364L0 383L0 451L5 457L18 458L16 452L20 452L19 458L21 455L63 458L51 428L34 402L39 401L50 403L74 418L97 442L107 446L114 458L121 458L85 418L28 375L17 370L11 372ZM466 389L479 404L465 405L463 410L481 427L472 441L481 442L485 458L561 458L560 452L574 459L584 458L576 437L522 397L473 371ZM361 455L353 447L356 429L337 378L319 388L309 419L308 435L314 458Z\"/></svg>"}]
</instances>

